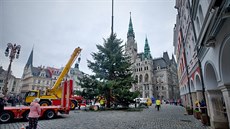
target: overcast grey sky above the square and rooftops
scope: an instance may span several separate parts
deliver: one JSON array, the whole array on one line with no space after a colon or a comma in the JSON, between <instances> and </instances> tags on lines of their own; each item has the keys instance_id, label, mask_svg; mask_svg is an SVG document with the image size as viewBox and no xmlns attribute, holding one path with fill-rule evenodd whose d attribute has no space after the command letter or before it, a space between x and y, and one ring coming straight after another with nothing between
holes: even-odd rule
<instances>
[{"instance_id":1,"label":"overcast grey sky above the square and rooftops","mask_svg":"<svg viewBox=\"0 0 230 129\"><path fill-rule=\"evenodd\" d=\"M86 60L96 44L111 33L112 0L0 0L0 66L8 68L7 43L21 45L13 75L21 77L34 46L33 66L65 66L74 48L81 47L80 70L91 74ZM114 0L114 32L127 41L130 13L138 45L147 36L153 58L173 54L174 0Z\"/></svg>"}]
</instances>

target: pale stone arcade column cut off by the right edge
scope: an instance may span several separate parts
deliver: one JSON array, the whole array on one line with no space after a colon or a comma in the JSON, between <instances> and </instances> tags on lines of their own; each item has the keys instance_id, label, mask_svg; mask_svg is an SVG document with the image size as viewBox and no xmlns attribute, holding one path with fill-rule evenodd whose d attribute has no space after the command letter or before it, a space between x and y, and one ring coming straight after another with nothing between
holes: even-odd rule
<instances>
[{"instance_id":1,"label":"pale stone arcade column cut off by the right edge","mask_svg":"<svg viewBox=\"0 0 230 129\"><path fill-rule=\"evenodd\" d=\"M221 86L221 91L224 97L226 112L228 116L228 120L230 120L230 85L229 86ZM230 128L230 122L228 121L228 126Z\"/></svg>"}]
</instances>

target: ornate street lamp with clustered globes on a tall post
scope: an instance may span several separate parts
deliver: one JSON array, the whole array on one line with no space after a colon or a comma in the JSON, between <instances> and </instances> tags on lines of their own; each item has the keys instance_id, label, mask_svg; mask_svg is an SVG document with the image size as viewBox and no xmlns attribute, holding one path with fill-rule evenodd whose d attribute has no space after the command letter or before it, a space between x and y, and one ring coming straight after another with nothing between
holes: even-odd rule
<instances>
[{"instance_id":1,"label":"ornate street lamp with clustered globes on a tall post","mask_svg":"<svg viewBox=\"0 0 230 129\"><path fill-rule=\"evenodd\" d=\"M10 73L10 70L11 70L11 63L12 63L13 59L15 58L15 54L16 54L16 59L19 58L20 49L21 49L20 45L16 45L16 44L13 45L11 43L7 44L5 55L6 55L6 57L9 56L10 64L9 64L8 71L7 71L7 74L6 74L5 84L4 84L4 87L2 89L2 92L3 92L4 95L6 95L7 91L8 91L7 84L8 84L9 73Z\"/></svg>"}]
</instances>

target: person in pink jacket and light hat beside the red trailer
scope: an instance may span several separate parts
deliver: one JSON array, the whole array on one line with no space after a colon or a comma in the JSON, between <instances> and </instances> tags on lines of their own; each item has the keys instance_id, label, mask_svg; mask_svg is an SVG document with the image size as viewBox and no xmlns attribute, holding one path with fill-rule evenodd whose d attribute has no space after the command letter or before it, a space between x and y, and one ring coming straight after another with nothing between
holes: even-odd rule
<instances>
[{"instance_id":1,"label":"person in pink jacket and light hat beside the red trailer","mask_svg":"<svg viewBox=\"0 0 230 129\"><path fill-rule=\"evenodd\" d=\"M29 113L29 127L28 129L37 129L38 118L41 115L41 108L39 104L40 99L35 98L30 104L30 113Z\"/></svg>"}]
</instances>

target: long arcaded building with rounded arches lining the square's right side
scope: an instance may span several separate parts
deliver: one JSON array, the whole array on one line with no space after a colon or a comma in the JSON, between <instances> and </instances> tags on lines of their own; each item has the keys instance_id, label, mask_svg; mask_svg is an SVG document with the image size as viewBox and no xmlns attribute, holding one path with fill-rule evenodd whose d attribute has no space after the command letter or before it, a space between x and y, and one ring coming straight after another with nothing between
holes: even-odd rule
<instances>
[{"instance_id":1,"label":"long arcaded building with rounded arches lining the square's right side","mask_svg":"<svg viewBox=\"0 0 230 129\"><path fill-rule=\"evenodd\" d=\"M230 1L176 0L174 47L180 95L205 100L213 128L230 127Z\"/></svg>"}]
</instances>

